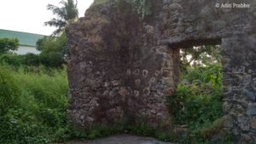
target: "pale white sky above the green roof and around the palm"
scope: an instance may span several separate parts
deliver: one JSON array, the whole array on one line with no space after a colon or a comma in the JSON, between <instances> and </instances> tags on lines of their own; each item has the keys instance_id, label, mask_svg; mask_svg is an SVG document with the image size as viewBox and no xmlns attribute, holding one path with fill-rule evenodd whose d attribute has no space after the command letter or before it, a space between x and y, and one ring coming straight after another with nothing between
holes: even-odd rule
<instances>
[{"instance_id":1,"label":"pale white sky above the green roof and around the palm","mask_svg":"<svg viewBox=\"0 0 256 144\"><path fill-rule=\"evenodd\" d=\"M0 29L50 35L55 27L44 26L54 18L46 9L48 3L59 5L61 0L0 0ZM78 0L79 17L84 16L93 0Z\"/></svg>"}]
</instances>

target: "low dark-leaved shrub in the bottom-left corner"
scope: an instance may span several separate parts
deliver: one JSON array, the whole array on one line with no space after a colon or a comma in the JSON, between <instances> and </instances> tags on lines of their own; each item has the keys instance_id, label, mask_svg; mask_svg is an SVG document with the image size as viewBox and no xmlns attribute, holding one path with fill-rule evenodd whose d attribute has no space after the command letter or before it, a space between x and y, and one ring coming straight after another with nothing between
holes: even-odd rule
<instances>
[{"instance_id":1,"label":"low dark-leaved shrub in the bottom-left corner","mask_svg":"<svg viewBox=\"0 0 256 144\"><path fill-rule=\"evenodd\" d=\"M44 126L38 123L31 112L22 109L9 109L1 118L0 143L3 144L41 144L49 140L43 135Z\"/></svg>"}]
</instances>

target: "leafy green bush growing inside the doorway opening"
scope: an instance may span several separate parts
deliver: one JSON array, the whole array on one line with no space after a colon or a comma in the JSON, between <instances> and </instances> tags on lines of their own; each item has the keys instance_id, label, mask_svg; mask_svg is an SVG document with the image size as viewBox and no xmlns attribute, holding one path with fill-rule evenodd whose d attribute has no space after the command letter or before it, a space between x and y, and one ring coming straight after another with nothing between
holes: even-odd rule
<instances>
[{"instance_id":1,"label":"leafy green bush growing inside the doorway opening","mask_svg":"<svg viewBox=\"0 0 256 144\"><path fill-rule=\"evenodd\" d=\"M175 124L188 125L191 139L207 141L221 130L222 66L190 66L181 79L168 99Z\"/></svg>"}]
</instances>

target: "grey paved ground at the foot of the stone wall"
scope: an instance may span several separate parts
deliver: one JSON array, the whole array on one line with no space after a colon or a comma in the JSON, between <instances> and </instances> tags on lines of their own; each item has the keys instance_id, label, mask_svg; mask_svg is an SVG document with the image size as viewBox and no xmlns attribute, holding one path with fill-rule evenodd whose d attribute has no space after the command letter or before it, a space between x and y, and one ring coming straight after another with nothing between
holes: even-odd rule
<instances>
[{"instance_id":1,"label":"grey paved ground at the foot of the stone wall","mask_svg":"<svg viewBox=\"0 0 256 144\"><path fill-rule=\"evenodd\" d=\"M173 144L156 141L154 138L140 137L136 135L114 135L95 141L71 141L69 144Z\"/></svg>"}]
</instances>

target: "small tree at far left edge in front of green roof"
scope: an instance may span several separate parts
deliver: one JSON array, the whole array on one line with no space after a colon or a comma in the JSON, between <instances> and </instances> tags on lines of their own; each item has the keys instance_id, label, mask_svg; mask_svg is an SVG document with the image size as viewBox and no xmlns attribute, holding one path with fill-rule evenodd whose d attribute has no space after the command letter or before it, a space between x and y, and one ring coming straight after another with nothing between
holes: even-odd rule
<instances>
[{"instance_id":1,"label":"small tree at far left edge in front of green roof","mask_svg":"<svg viewBox=\"0 0 256 144\"><path fill-rule=\"evenodd\" d=\"M0 38L0 54L6 53L9 50L17 50L19 45L17 38Z\"/></svg>"}]
</instances>

